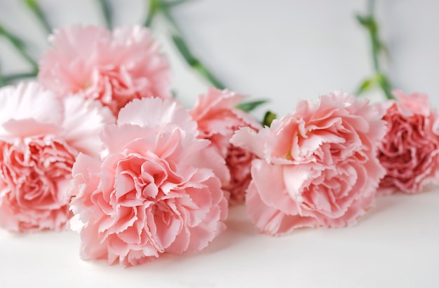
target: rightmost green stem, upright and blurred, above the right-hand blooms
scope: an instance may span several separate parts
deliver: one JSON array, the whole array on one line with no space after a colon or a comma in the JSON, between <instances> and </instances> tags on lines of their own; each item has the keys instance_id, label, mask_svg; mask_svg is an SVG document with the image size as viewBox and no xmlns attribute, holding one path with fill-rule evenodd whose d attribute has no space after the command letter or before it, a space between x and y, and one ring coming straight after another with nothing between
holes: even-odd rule
<instances>
[{"instance_id":1,"label":"rightmost green stem, upright and blurred, above the right-hand blooms","mask_svg":"<svg viewBox=\"0 0 439 288\"><path fill-rule=\"evenodd\" d=\"M384 45L379 39L378 35L378 24L377 20L374 18L374 0L367 1L367 15L357 15L357 20L360 22L367 32L369 32L370 45L372 52L372 63L374 68L374 76L370 79L366 79L363 84L358 89L358 93L364 92L369 88L371 83L376 83L379 88L384 92L387 99L395 99L391 93L391 83L389 77L384 74L381 70L381 65L379 64L379 53L384 50Z\"/></svg>"}]
</instances>

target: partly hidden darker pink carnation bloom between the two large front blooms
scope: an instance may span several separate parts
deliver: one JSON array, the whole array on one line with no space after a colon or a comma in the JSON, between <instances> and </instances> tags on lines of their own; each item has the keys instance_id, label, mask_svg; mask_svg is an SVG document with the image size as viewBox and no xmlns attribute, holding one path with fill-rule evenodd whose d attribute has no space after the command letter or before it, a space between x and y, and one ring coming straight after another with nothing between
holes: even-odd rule
<instances>
[{"instance_id":1,"label":"partly hidden darker pink carnation bloom between the two large front blooms","mask_svg":"<svg viewBox=\"0 0 439 288\"><path fill-rule=\"evenodd\" d=\"M198 97L194 109L189 111L198 123L200 137L209 139L226 160L230 183L223 188L229 192L231 205L245 201L245 190L252 179L250 165L255 155L231 144L229 140L238 128L262 128L250 115L236 108L243 99L243 95L235 92L210 88L205 95Z\"/></svg>"}]
</instances>

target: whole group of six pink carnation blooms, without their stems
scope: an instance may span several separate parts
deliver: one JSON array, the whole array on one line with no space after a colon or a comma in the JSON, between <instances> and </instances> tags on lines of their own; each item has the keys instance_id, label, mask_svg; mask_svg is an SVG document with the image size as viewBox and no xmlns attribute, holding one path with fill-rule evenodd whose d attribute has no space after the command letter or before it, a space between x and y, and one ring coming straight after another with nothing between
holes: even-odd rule
<instances>
[{"instance_id":1,"label":"whole group of six pink carnation blooms, without their stems","mask_svg":"<svg viewBox=\"0 0 439 288\"><path fill-rule=\"evenodd\" d=\"M349 226L379 194L438 182L426 95L336 91L261 124L229 90L185 109L145 27L65 27L50 44L38 81L0 88L0 226L73 229L83 259L201 250L231 205L269 235Z\"/></svg>"}]
</instances>

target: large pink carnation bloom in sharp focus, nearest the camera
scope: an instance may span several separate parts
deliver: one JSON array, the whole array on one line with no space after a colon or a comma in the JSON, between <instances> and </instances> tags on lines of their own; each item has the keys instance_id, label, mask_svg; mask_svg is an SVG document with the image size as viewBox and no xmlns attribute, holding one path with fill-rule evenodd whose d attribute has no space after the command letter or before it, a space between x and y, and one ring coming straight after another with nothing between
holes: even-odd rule
<instances>
[{"instance_id":1,"label":"large pink carnation bloom in sharp focus, nearest the camera","mask_svg":"<svg viewBox=\"0 0 439 288\"><path fill-rule=\"evenodd\" d=\"M101 160L80 155L71 209L83 259L134 266L203 249L224 226L227 168L170 100L135 100L104 128ZM220 177L218 177L220 176Z\"/></svg>"}]
</instances>

